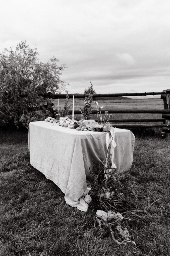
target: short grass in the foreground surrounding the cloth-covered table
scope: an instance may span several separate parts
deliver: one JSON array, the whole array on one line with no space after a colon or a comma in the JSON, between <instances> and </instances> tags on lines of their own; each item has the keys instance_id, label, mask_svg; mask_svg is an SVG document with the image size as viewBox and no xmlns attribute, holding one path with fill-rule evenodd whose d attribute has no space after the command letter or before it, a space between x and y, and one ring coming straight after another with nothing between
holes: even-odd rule
<instances>
[{"instance_id":1,"label":"short grass in the foreground surrounding the cloth-covered table","mask_svg":"<svg viewBox=\"0 0 170 256\"><path fill-rule=\"evenodd\" d=\"M125 178L131 197L121 212L132 212L126 226L136 245L118 245L95 225L94 204L87 212L66 205L61 190L30 165L28 131L1 131L0 138L1 256L170 255L170 143L159 134L136 136Z\"/></svg>"}]
</instances>

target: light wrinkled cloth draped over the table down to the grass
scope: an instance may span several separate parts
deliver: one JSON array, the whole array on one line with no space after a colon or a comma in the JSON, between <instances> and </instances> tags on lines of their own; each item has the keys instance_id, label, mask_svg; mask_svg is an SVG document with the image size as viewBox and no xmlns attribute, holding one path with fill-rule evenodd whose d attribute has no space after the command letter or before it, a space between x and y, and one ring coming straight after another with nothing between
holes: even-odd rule
<instances>
[{"instance_id":1,"label":"light wrinkled cloth draped over the table down to the grass","mask_svg":"<svg viewBox=\"0 0 170 256\"><path fill-rule=\"evenodd\" d=\"M68 205L87 211L84 196L89 191L89 167L107 157L107 135L45 121L30 122L30 163L62 190ZM113 138L113 162L120 173L126 173L133 161L135 136L129 130L114 128Z\"/></svg>"}]
</instances>

